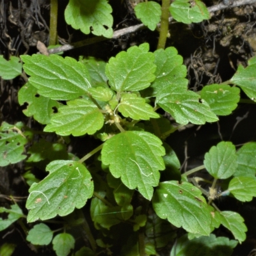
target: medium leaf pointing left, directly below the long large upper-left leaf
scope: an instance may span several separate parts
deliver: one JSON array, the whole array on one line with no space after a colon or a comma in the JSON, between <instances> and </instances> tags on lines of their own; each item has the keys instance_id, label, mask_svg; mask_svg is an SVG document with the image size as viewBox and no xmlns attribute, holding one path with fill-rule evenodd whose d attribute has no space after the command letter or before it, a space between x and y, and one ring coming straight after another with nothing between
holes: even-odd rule
<instances>
[{"instance_id":1,"label":"medium leaf pointing left, directly below the long large upper-left leaf","mask_svg":"<svg viewBox=\"0 0 256 256\"><path fill-rule=\"evenodd\" d=\"M51 124L46 125L44 131L62 136L81 136L95 133L103 124L104 116L92 101L76 99L59 108L59 113L52 116Z\"/></svg>"}]
</instances>

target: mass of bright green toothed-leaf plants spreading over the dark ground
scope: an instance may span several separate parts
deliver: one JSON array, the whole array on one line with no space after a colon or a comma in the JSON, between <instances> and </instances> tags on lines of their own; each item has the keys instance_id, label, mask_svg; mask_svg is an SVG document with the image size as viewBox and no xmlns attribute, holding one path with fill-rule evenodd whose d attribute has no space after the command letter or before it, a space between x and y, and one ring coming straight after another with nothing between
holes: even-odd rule
<instances>
[{"instance_id":1,"label":"mass of bright green toothed-leaf plants spreading over the dark ground","mask_svg":"<svg viewBox=\"0 0 256 256\"><path fill-rule=\"evenodd\" d=\"M166 3L179 22L210 17L198 0ZM70 0L67 23L84 33L93 28L94 35L111 38L113 18L108 2L88 1L90 8L83 9L85 5L85 1ZM81 15L81 10L86 12ZM96 24L89 17L97 17L97 12L106 16L100 16ZM135 12L152 30L163 16L154 1L138 4ZM241 100L240 90L248 102L255 102L256 58L246 68L239 65L230 80L193 92L188 90L182 56L175 47L163 49L161 40L160 36L159 49L154 52L144 43L118 53L108 63L56 54L22 55L23 65L19 58L0 59L3 79L21 74L23 67L29 79L19 91L19 103L28 105L26 116L45 125L40 132L21 122L3 122L0 127L0 165L25 161L23 177L30 186L28 215L16 203L10 209L0 207L0 212L8 214L0 219L0 230L14 221L25 227L22 218L28 223L40 221L29 230L27 240L35 245L52 243L57 255L68 255L77 238L68 229L82 227L87 240L76 256L157 255L159 248L174 243L180 227L187 234L177 239L172 256L187 255L189 250L196 250L190 255L230 255L237 242L246 239L243 217L221 211L214 200L230 195L248 202L256 196L256 143L237 150L232 142L221 141L205 153L204 165L180 173L179 159L164 141L189 123L204 125L230 115ZM49 132L55 134L51 141ZM79 159L68 152L67 145L71 135L86 134L102 142ZM36 179L33 167L45 170L46 177ZM204 169L208 179L196 175ZM54 236L46 220L56 216L62 218L58 218L60 229ZM212 234L220 225L236 240Z\"/></svg>"}]
</instances>

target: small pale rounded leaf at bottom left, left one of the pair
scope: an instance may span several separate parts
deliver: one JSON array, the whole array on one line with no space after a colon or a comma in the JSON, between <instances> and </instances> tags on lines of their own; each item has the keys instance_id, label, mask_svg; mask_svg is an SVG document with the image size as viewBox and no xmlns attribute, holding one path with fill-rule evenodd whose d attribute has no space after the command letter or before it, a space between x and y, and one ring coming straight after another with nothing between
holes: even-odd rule
<instances>
[{"instance_id":1,"label":"small pale rounded leaf at bottom left, left one of the pair","mask_svg":"<svg viewBox=\"0 0 256 256\"><path fill-rule=\"evenodd\" d=\"M27 241L35 245L47 245L52 241L53 232L44 223L35 225L28 232Z\"/></svg>"}]
</instances>

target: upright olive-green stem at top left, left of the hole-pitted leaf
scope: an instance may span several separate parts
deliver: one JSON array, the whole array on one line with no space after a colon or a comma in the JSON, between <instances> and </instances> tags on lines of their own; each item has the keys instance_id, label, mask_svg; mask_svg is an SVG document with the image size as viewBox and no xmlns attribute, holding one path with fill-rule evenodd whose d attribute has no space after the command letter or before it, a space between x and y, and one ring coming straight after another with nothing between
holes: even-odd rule
<instances>
[{"instance_id":1,"label":"upright olive-green stem at top left, left of the hole-pitted leaf","mask_svg":"<svg viewBox=\"0 0 256 256\"><path fill-rule=\"evenodd\" d=\"M49 45L57 41L58 0L51 0Z\"/></svg>"}]
</instances>

